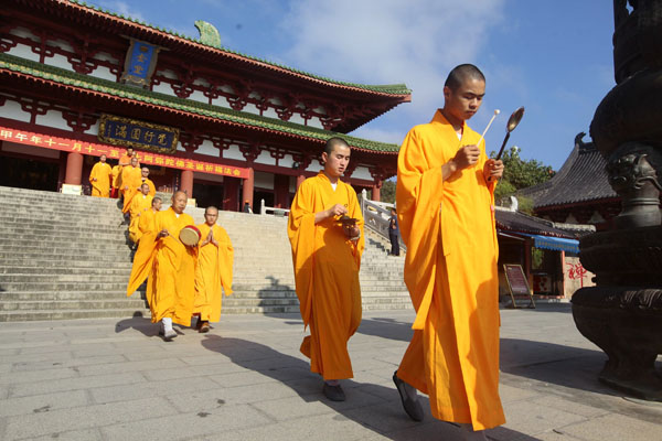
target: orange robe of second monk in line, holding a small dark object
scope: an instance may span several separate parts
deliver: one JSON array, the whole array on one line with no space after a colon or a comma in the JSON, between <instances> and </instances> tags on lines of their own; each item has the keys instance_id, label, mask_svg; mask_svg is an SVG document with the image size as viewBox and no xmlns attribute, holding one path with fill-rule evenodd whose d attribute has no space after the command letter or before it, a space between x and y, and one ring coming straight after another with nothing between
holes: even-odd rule
<instances>
[{"instance_id":1,"label":"orange robe of second monk in line, holding a small dark object","mask_svg":"<svg viewBox=\"0 0 662 441\"><path fill-rule=\"evenodd\" d=\"M334 204L359 219L359 240L350 240L335 218L316 225L314 214ZM307 179L290 207L288 236L301 318L310 325L301 353L310 358L310 370L324 379L352 378L348 342L361 323L359 268L364 246L356 193L341 181L333 190L323 172Z\"/></svg>"}]
</instances>

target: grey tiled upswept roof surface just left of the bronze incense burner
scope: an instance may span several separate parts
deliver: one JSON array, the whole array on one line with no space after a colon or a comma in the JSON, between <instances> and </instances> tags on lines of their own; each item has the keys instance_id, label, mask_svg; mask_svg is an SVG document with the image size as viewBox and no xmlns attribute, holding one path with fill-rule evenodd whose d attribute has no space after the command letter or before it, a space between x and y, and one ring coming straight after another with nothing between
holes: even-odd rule
<instances>
[{"instance_id":1,"label":"grey tiled upswept roof surface just left of the bronze incense burner","mask_svg":"<svg viewBox=\"0 0 662 441\"><path fill-rule=\"evenodd\" d=\"M618 198L609 185L605 165L605 159L592 143L575 146L549 181L523 189L517 194L532 198L536 209Z\"/></svg>"}]
</instances>

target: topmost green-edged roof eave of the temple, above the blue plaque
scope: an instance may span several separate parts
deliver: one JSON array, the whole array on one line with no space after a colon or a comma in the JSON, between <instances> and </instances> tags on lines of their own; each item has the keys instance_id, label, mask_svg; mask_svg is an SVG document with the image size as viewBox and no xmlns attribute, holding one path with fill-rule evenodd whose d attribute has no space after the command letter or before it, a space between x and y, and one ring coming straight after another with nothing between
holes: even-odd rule
<instances>
[{"instance_id":1,"label":"topmost green-edged roof eave of the temple, above the blue plaque","mask_svg":"<svg viewBox=\"0 0 662 441\"><path fill-rule=\"evenodd\" d=\"M23 1L23 3L29 6L31 9L34 9L38 2L31 0ZM246 63L253 67L277 72L291 78L298 78L300 80L310 82L335 89L344 89L346 92L357 94L369 94L375 97L381 96L384 98L394 98L401 103L406 103L412 99L412 90L407 88L405 84L365 85L331 79L292 67L284 66L278 63L269 62L267 60L242 54L228 47L214 47L202 43L199 39L193 39L174 31L146 23L141 20L136 20L134 18L125 17L96 6L87 4L83 1L42 0L42 7L47 11L51 11L53 7L56 7L60 8L61 13L76 13L77 17L84 14L85 19L89 20L89 24L92 25L98 25L103 22L110 23L120 28L120 33L145 39L154 44L168 44L171 47L173 44L179 45L184 52L197 52L202 56L209 56L211 53L224 58L237 61L239 63Z\"/></svg>"}]
</instances>

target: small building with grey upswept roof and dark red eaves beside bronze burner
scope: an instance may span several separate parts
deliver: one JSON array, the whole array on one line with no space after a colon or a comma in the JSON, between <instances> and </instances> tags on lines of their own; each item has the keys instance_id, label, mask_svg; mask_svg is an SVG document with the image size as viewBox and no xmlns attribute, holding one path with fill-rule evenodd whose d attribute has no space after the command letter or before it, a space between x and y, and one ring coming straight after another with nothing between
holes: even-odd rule
<instances>
[{"instance_id":1,"label":"small building with grey upswept roof and dark red eaves beside bronze burner","mask_svg":"<svg viewBox=\"0 0 662 441\"><path fill-rule=\"evenodd\" d=\"M579 133L560 170L548 181L517 192L533 200L535 214L554 222L608 228L620 212L620 197L609 185L607 164L592 142Z\"/></svg>"}]
</instances>

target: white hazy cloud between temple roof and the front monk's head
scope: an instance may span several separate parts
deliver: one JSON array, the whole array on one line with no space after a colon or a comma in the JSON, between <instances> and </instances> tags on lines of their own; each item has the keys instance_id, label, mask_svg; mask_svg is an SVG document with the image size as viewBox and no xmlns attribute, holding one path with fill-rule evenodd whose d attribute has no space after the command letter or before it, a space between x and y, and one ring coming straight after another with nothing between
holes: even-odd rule
<instances>
[{"instance_id":1,"label":"white hazy cloud between temple roof and the front monk's head","mask_svg":"<svg viewBox=\"0 0 662 441\"><path fill-rule=\"evenodd\" d=\"M477 61L503 0L309 0L284 20L290 65L334 79L405 83L407 114L431 116L448 71Z\"/></svg>"}]
</instances>

